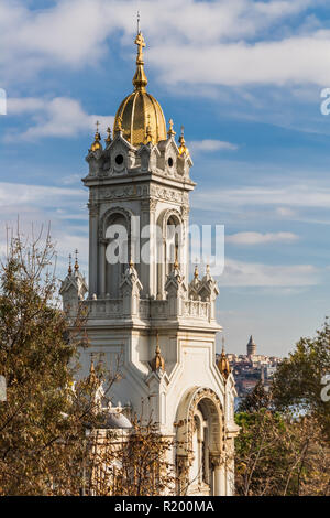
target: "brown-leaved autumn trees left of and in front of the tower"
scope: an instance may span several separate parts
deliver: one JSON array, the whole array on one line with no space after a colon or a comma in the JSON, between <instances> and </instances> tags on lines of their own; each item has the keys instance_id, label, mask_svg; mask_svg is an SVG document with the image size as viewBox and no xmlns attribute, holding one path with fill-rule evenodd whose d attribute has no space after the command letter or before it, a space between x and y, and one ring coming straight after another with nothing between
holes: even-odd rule
<instances>
[{"instance_id":1,"label":"brown-leaved autumn trees left of and in front of the tower","mask_svg":"<svg viewBox=\"0 0 330 518\"><path fill-rule=\"evenodd\" d=\"M84 303L70 326L57 300L50 234L8 246L0 272L0 495L152 495L170 492L172 440L157 423L134 420L121 434L107 425L121 358L75 381L78 348L88 346ZM87 434L87 431L89 433Z\"/></svg>"}]
</instances>

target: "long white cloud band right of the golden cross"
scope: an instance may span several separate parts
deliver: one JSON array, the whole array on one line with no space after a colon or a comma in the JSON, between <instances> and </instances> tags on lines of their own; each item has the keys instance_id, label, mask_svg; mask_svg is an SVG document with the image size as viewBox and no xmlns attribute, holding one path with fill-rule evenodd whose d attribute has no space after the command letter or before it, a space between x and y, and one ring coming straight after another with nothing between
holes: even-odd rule
<instances>
[{"instance_id":1,"label":"long white cloud band right of the golden cross","mask_svg":"<svg viewBox=\"0 0 330 518\"><path fill-rule=\"evenodd\" d=\"M324 66L329 54L330 31L323 30L274 42L180 45L179 67L176 45L152 48L151 58L168 84L323 86L330 82L330 69Z\"/></svg>"}]
</instances>

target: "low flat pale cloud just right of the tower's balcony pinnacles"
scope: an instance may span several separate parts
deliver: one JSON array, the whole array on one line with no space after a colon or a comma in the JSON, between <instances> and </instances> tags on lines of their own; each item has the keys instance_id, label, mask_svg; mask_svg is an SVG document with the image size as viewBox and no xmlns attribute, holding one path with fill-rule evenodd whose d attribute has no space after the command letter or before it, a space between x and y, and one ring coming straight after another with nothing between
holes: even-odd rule
<instances>
[{"instance_id":1,"label":"low flat pale cloud just right of the tower's balcony pinnacles","mask_svg":"<svg viewBox=\"0 0 330 518\"><path fill-rule=\"evenodd\" d=\"M217 267L212 270L217 276ZM226 259L219 285L224 287L308 287L319 283L319 272L311 265L273 266Z\"/></svg>"}]
</instances>

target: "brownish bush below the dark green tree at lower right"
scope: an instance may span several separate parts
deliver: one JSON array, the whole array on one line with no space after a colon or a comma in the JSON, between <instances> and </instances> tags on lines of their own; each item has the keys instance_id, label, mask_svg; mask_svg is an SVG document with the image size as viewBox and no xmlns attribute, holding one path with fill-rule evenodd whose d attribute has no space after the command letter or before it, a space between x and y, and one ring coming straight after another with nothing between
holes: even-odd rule
<instances>
[{"instance_id":1,"label":"brownish bush below the dark green tree at lower right","mask_svg":"<svg viewBox=\"0 0 330 518\"><path fill-rule=\"evenodd\" d=\"M237 416L235 488L241 496L329 495L329 445L317 419L260 409Z\"/></svg>"}]
</instances>

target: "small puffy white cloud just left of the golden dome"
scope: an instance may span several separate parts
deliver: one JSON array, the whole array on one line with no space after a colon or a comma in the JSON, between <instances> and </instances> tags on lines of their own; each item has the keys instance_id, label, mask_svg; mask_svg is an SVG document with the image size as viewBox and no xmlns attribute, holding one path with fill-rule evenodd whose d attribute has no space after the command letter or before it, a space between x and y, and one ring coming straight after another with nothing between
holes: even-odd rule
<instances>
[{"instance_id":1,"label":"small puffy white cloud just left of the golden dome","mask_svg":"<svg viewBox=\"0 0 330 518\"><path fill-rule=\"evenodd\" d=\"M7 141L35 140L44 137L79 137L95 130L97 120L101 132L113 125L113 116L88 115L80 102L68 97L41 99L34 97L12 98L8 102L8 116L29 114L32 120L24 132L12 130L6 136Z\"/></svg>"}]
</instances>

